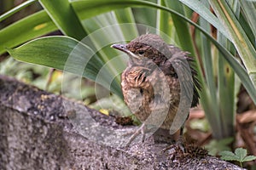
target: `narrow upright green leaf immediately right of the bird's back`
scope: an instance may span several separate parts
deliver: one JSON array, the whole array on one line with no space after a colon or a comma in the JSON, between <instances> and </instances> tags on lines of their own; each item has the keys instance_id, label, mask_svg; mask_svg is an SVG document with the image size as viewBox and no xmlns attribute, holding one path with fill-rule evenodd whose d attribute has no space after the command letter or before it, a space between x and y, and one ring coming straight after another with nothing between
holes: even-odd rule
<instances>
[{"instance_id":1,"label":"narrow upright green leaf immediately right of the bird's back","mask_svg":"<svg viewBox=\"0 0 256 170\"><path fill-rule=\"evenodd\" d=\"M203 1L202 6L210 6L207 1ZM204 28L207 32L211 32L210 24L207 20L200 18L200 26ZM212 134L214 138L220 139L222 135L221 119L218 112L218 99L217 99L217 87L216 79L214 77L214 62L212 62L212 49L211 42L208 41L204 34L201 35L201 60L202 69L205 72L205 82L206 85L202 86L201 92L201 105L206 112L207 120L210 122L212 129ZM212 105L215 103L216 105Z\"/></svg>"}]
</instances>

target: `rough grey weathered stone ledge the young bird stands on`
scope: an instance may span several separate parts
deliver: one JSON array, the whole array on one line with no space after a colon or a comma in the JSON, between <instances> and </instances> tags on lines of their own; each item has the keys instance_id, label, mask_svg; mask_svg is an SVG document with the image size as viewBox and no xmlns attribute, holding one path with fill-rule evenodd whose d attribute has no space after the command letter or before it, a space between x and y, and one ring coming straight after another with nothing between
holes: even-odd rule
<instances>
[{"instance_id":1,"label":"rough grey weathered stone ledge the young bird stands on","mask_svg":"<svg viewBox=\"0 0 256 170\"><path fill-rule=\"evenodd\" d=\"M119 149L90 141L67 119L77 107L106 128L122 127L111 116L13 78L0 76L0 94L0 169L241 169L212 156L181 160L150 139Z\"/></svg>"}]
</instances>

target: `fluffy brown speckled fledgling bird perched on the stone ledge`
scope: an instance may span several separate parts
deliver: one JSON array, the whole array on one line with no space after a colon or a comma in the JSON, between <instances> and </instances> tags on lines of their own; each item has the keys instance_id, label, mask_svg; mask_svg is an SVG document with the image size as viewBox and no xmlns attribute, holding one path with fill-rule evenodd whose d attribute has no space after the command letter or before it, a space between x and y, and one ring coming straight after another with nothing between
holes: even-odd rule
<instances>
[{"instance_id":1,"label":"fluffy brown speckled fledgling bird perched on the stone ledge","mask_svg":"<svg viewBox=\"0 0 256 170\"><path fill-rule=\"evenodd\" d=\"M182 88L188 96L190 93L189 108L198 105L197 89L201 87L195 77L196 71L189 53L166 44L160 36L154 34L145 34L127 44L113 44L112 47L129 55L129 64L122 73L121 87L125 103L143 122L140 133L144 133L145 124L170 129L179 103L183 102ZM184 115L183 121L187 119L188 113ZM183 126L178 133L182 134L182 129Z\"/></svg>"}]
</instances>

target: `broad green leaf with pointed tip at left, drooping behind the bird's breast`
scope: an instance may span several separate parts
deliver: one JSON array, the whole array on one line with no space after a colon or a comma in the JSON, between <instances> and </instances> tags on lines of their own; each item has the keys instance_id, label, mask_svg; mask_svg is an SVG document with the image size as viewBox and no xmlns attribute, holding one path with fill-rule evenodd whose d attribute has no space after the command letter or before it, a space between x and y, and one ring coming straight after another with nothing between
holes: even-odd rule
<instances>
[{"instance_id":1,"label":"broad green leaf with pointed tip at left, drooping behind the bird's breast","mask_svg":"<svg viewBox=\"0 0 256 170\"><path fill-rule=\"evenodd\" d=\"M106 67L103 67L102 60L88 46L71 37L42 37L19 48L8 49L8 52L23 62L71 72L93 81L97 78L97 82L103 87L111 87L114 94L122 97L119 83L108 70L104 70ZM99 75L99 71L102 75Z\"/></svg>"}]
</instances>

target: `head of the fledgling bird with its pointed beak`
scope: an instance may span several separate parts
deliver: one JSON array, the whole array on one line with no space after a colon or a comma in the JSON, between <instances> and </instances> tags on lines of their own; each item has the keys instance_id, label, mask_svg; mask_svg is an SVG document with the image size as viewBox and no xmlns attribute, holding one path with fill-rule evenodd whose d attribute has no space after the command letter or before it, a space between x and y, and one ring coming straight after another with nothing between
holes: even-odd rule
<instances>
[{"instance_id":1,"label":"head of the fledgling bird with its pointed beak","mask_svg":"<svg viewBox=\"0 0 256 170\"><path fill-rule=\"evenodd\" d=\"M154 34L144 34L127 44L113 44L111 47L128 54L135 65L148 59L159 65L166 60L166 53L169 52L166 42Z\"/></svg>"}]
</instances>

